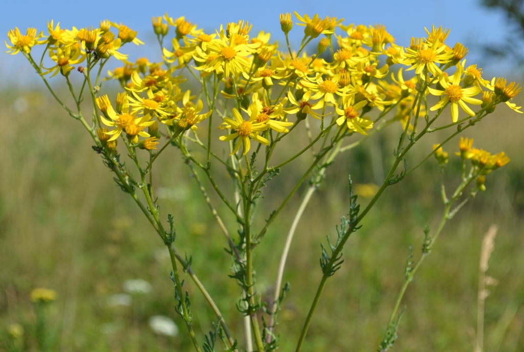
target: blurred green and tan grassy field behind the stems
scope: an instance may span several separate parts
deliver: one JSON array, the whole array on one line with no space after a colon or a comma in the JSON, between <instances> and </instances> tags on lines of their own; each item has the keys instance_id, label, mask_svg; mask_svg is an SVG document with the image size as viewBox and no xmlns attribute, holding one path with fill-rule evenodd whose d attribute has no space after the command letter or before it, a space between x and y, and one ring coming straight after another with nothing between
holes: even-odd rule
<instances>
[{"instance_id":1,"label":"blurred green and tan grassy field behind the stems","mask_svg":"<svg viewBox=\"0 0 524 352\"><path fill-rule=\"evenodd\" d=\"M0 124L4 126L0 129L0 350L7 350L6 330L13 323L25 327L28 350L37 350L31 332L35 314L29 298L37 287L58 292L49 310L56 338L53 350L192 350L183 322L174 311L167 250L143 214L116 186L100 156L91 149L92 142L82 126L64 113L49 93L39 90L2 92ZM405 295L407 309L394 350L473 351L479 252L492 224L499 232L488 274L499 284L490 289L486 300L485 351L524 350L523 130L524 117L503 104L463 134L475 138L476 147L504 150L512 160L490 174L487 191L446 224ZM288 145L303 144L304 130L294 132L287 138ZM294 350L321 278L320 242L325 243L326 235L335 236L335 225L348 211L348 173L355 183L381 181L381 169L389 169L399 133L400 124L391 126L337 157L305 210L284 277L292 289L277 328L282 337L280 350ZM410 155L411 166L431 150L439 136L435 133L424 139ZM220 151L218 142L214 143ZM458 150L458 139L445 149L451 158L446 170L451 189L460 178L459 158L452 156ZM227 278L231 258L224 251L225 239L188 177L190 171L178 150L164 153L160 163L154 183L162 216L173 214L177 248L193 257L193 270L243 346L242 316L235 306L241 290ZM292 188L306 164L296 160L271 181L267 199L257 210L260 221ZM219 181L230 185L225 173ZM264 301L272 297L281 247L305 186L255 252L257 288ZM209 193L219 205L216 194ZM362 197L359 201L367 203ZM436 227L442 210L438 165L433 158L385 192L362 229L348 241L343 251L345 262L326 285L304 351L377 349L403 282L408 247L413 244L416 258L420 255L424 224ZM219 206L219 212L233 224L225 208ZM234 225L228 228L235 233ZM137 278L150 282L153 290L135 295L130 306L108 304L112 295L124 292L124 281ZM185 279L194 326L203 342L204 333L212 329L216 319L189 277ZM158 314L173 318L180 334L156 336L147 322ZM507 329L501 328L505 321Z\"/></svg>"}]
</instances>

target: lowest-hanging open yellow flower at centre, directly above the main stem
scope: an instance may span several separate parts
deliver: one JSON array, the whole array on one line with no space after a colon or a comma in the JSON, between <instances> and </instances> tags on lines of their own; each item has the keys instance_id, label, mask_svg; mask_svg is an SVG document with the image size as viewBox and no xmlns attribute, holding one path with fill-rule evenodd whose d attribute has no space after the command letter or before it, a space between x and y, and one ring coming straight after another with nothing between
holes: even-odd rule
<instances>
[{"instance_id":1,"label":"lowest-hanging open yellow flower at centre, directly above the main stem","mask_svg":"<svg viewBox=\"0 0 524 352\"><path fill-rule=\"evenodd\" d=\"M230 155L236 153L238 149L240 149L241 144L244 145L244 155L246 155L249 151L249 148L251 148L251 141L249 138L252 138L263 145L269 145L269 140L258 135L261 131L268 129L269 125L266 123L257 122L254 119L249 119L249 121L244 120L236 108L233 108L233 117L235 118L234 120L225 117L224 122L226 126L231 127L235 132L230 135L220 137L220 140L223 141L228 141L239 137L236 146Z\"/></svg>"}]
</instances>

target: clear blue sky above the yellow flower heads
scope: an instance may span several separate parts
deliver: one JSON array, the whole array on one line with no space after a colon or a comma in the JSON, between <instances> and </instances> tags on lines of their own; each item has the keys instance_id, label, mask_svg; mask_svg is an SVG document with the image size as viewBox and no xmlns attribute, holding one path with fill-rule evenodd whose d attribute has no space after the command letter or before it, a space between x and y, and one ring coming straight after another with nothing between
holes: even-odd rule
<instances>
[{"instance_id":1,"label":"clear blue sky above the yellow flower heads","mask_svg":"<svg viewBox=\"0 0 524 352\"><path fill-rule=\"evenodd\" d=\"M405 0L396 1L100 1L71 2L53 1L42 2L9 1L2 5L0 12L0 33L7 40L7 31L18 27L25 31L27 27L36 27L46 30L47 20L60 21L61 27L97 26L102 19L122 22L134 30L138 30L138 38L146 42L150 50L127 51L130 59L144 56L144 51L157 50L155 37L152 36L151 17L168 12L172 17L185 16L187 19L212 31L220 24L239 19L248 20L253 24L253 32L259 30L270 31L272 39L283 42L280 31L279 14L293 12L320 16L335 16L345 18L344 23L350 24L384 24L386 29L396 38L399 45L409 45L413 36L423 36L424 26L443 26L451 28L449 43L456 41L464 43L470 48L468 62L482 60L481 54L475 50L475 44L495 42L505 37L508 31L506 20L501 13L479 6L480 0ZM253 34L252 32L252 34ZM290 32L291 42L299 42L302 38L302 28L295 26ZM129 49L129 47L127 47ZM151 55L146 54L148 57ZM486 73L500 74L508 72L500 69L503 65L494 63L485 67ZM14 78L18 81L29 80L34 74L28 63L21 55L9 56L0 54L0 79Z\"/></svg>"}]
</instances>

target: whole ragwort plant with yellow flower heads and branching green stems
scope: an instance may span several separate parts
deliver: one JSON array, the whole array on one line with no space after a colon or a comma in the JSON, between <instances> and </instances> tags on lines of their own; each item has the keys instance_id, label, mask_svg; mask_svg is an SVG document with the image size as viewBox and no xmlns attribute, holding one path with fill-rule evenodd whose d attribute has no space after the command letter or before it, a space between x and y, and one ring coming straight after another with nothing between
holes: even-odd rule
<instances>
[{"instance_id":1,"label":"whole ragwort plant with yellow flower heads and branching green stems","mask_svg":"<svg viewBox=\"0 0 524 352\"><path fill-rule=\"evenodd\" d=\"M449 29L435 26L425 29L426 37L412 38L409 46L401 47L383 25L344 25L342 19L335 17L295 15L296 24L304 27L298 50L292 50L288 39L293 28L291 14L280 15L281 29L286 36L283 50L279 50L277 42L270 41L269 33L261 31L256 37L250 36L252 25L245 21L228 23L206 34L184 17L173 19L166 14L163 18L153 18L162 62L150 62L145 57L128 61L124 46L143 42L136 37L136 31L107 20L98 28L81 29L62 29L51 21L47 35L34 28L29 28L26 34L18 28L8 33L8 52L23 54L57 102L88 131L93 138L93 149L113 173L118 186L133 198L166 245L172 264L176 311L187 325L197 351L218 349L218 340L230 351L278 348L278 312L290 290L289 283L282 286L290 244L304 208L339 154L389 126L402 126L393 151L394 163L363 209L351 191L350 177L349 212L336 227L336 240L328 237L327 244L321 245L323 276L303 322L297 352L307 337L328 279L343 263L344 245L361 227L362 219L384 191L432 155L438 160L443 176L449 156L442 147L493 113L497 105L504 103L521 113L520 107L510 102L519 93L519 85L507 84L504 78L486 80L477 65L466 65L467 48L461 43L453 47L446 44ZM168 40L169 34L174 34L171 40ZM308 54L305 48L311 42L317 44L316 51ZM37 60L34 58L36 46L43 48ZM104 66L110 59L121 61L122 66L103 78ZM405 78L407 71L414 73L409 79ZM81 75L79 86L72 84L72 75ZM64 104L52 89L48 80L54 76L67 84L75 106ZM184 82L188 79L199 84L198 92L187 89L188 83ZM119 82L121 93L112 98L103 94L104 80ZM92 113L82 112L84 99L90 101ZM451 121L439 118L447 109L451 110ZM293 130L299 124L307 131L307 146L301 149L280 146L288 134L296 133ZM202 125L207 125L204 132L199 129ZM448 131L447 137L416 166L408 168L407 156L417 141L438 130ZM358 135L363 137L355 139ZM442 181L442 219L433 234L429 227L425 229L417 261L410 248L405 282L378 346L381 351L395 343L403 312L399 312L403 294L424 258L431 253L445 223L468 199L485 189L484 182L490 172L509 162L504 152L491 155L473 148L472 143L473 140L461 137L458 153L462 159L461 183L450 195ZM160 212L152 172L158 157L168 148L180 153L191 170L227 240L233 258L230 277L239 284L242 296L232 304L236 304L244 316L244 346L231 334L220 308L196 276L199 269L192 267L191 257L182 256L176 247L176 219ZM286 152L291 150L292 156L277 163L273 157L283 148ZM203 151L198 154L201 157L196 157L194 149ZM217 152L219 149L227 152L221 155ZM280 206L262 215L263 225L255 226L260 223L254 221L258 216L255 208L264 196L264 186L275 182L273 179L281 171L285 173L291 161L302 158L308 151L313 159L307 170L296 185L287 190ZM121 153L127 154L127 162L122 160ZM220 168L231 175L232 192L215 181ZM209 180L212 190L205 188L201 177ZM309 182L309 187L282 249L274 299L266 304L257 292L254 252L264 245L268 228L304 182ZM223 216L209 192L220 197L236 223L222 221ZM231 236L231 232L238 232L238 238ZM205 342L193 329L191 298L183 289L180 269L189 275L216 314L215 329L205 336Z\"/></svg>"}]
</instances>

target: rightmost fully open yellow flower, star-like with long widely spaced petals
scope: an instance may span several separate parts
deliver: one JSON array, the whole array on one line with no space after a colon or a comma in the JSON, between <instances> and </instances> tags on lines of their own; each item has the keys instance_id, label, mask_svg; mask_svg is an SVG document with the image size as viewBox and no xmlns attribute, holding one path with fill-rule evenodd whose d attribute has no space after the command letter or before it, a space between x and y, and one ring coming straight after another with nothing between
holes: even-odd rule
<instances>
[{"instance_id":1,"label":"rightmost fully open yellow flower, star-like with long widely spaced petals","mask_svg":"<svg viewBox=\"0 0 524 352\"><path fill-rule=\"evenodd\" d=\"M482 100L475 99L472 96L477 95L482 92L478 86L472 86L469 88L462 88L459 84L461 82L463 69L461 65L457 65L457 70L451 78L451 83L449 84L445 79L439 80L440 85L444 88L444 91L439 91L428 87L428 90L431 94L436 96L443 95L444 97L430 108L431 111L438 110L446 105L448 102L451 103L451 119L453 122L457 122L459 119L459 105L464 110L464 112L470 116L475 116L475 113L472 109L466 105L466 103L481 105Z\"/></svg>"}]
</instances>

